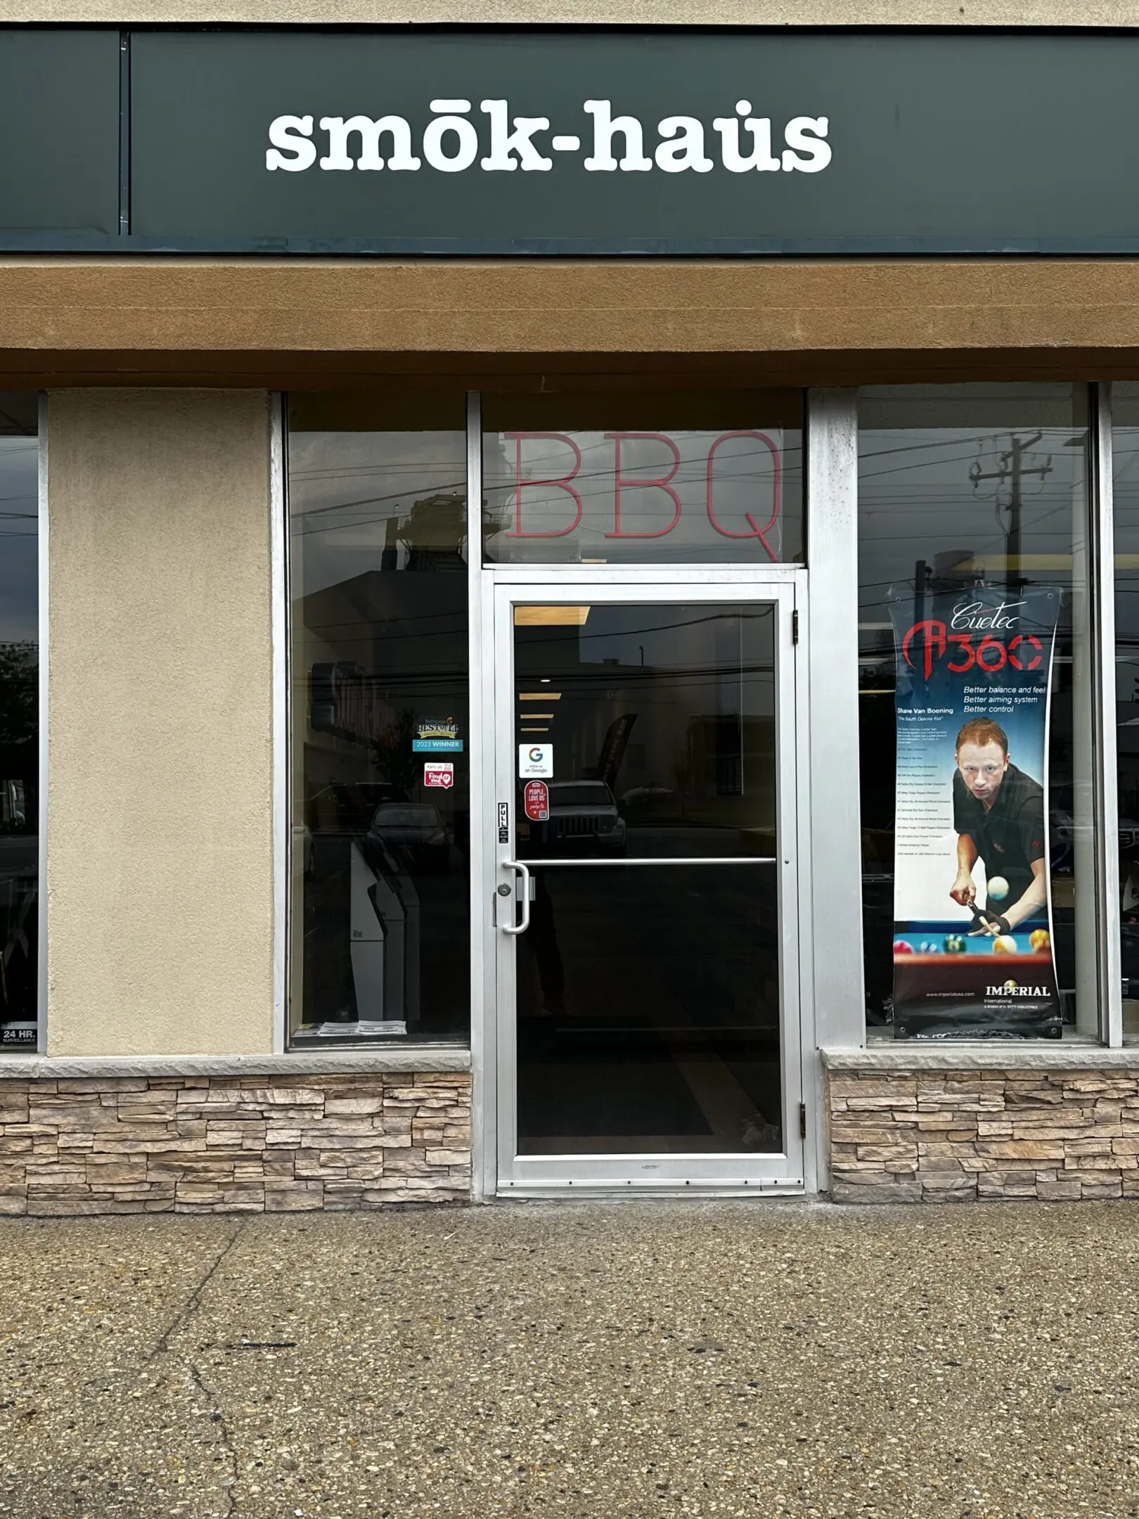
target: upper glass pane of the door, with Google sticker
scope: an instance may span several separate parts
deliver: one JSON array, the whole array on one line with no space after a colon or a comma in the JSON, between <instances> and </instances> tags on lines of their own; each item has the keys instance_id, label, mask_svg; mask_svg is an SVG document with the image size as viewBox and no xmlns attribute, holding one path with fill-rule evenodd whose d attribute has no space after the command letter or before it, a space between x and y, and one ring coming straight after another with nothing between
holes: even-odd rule
<instances>
[{"instance_id":1,"label":"upper glass pane of the door, with Google sticker","mask_svg":"<svg viewBox=\"0 0 1139 1519\"><path fill-rule=\"evenodd\" d=\"M778 854L770 603L521 605L513 621L519 860Z\"/></svg>"}]
</instances>

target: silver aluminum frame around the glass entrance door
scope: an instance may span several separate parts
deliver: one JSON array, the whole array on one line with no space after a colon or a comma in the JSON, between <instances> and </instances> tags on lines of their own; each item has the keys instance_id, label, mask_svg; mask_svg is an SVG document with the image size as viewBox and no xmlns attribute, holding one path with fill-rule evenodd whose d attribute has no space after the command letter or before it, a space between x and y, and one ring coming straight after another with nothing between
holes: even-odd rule
<instances>
[{"instance_id":1,"label":"silver aluminum frame around the glass entrance door","mask_svg":"<svg viewBox=\"0 0 1139 1519\"><path fill-rule=\"evenodd\" d=\"M483 570L483 609L486 644L492 650L492 699L486 703L483 785L483 863L477 913L483 925L486 975L483 986L489 1006L487 1025L494 1030L494 1100L483 1101L483 1154L494 1153L495 1174L486 1191L498 1195L566 1195L592 1192L714 1192L717 1195L782 1194L805 1189L803 1113L803 1010L809 1007L808 957L803 952L803 927L809 922L809 849L802 826L799 767L806 752L806 573L799 567L771 565L762 570L691 570L670 567L597 567L588 574L556 568L503 567ZM516 1010L515 954L516 936L495 925L497 887L515 880L506 869L513 858L513 843L501 843L498 810L509 808L507 838L513 838L515 813L515 688L513 688L513 608L524 605L585 603L730 603L758 602L776 608L776 797L779 813L779 861L771 866L721 863L720 869L775 869L779 875L781 942L781 1063L784 1097L784 1150L778 1154L749 1153L642 1153L519 1156L516 1153ZM797 614L797 615L796 615ZM639 869L627 861L595 869ZM510 905L513 898L507 898ZM487 1051L489 1053L489 1051ZM486 1097L491 1097L487 1092ZM494 1135L494 1139L492 1139Z\"/></svg>"}]
</instances>

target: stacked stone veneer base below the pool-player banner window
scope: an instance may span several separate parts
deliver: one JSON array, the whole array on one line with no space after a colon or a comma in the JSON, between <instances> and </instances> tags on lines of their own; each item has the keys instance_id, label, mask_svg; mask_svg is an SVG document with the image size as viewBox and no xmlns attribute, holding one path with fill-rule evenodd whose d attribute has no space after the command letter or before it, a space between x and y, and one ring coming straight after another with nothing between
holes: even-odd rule
<instances>
[{"instance_id":1,"label":"stacked stone veneer base below the pool-player banner window","mask_svg":"<svg viewBox=\"0 0 1139 1519\"><path fill-rule=\"evenodd\" d=\"M834 1202L1139 1197L1139 1068L834 1060L826 1091Z\"/></svg>"}]
</instances>

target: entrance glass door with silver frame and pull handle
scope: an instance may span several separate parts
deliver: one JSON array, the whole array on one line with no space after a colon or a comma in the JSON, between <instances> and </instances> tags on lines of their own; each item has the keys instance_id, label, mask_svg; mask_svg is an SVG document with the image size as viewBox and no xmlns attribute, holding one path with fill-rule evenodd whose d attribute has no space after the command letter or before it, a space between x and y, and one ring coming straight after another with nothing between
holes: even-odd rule
<instances>
[{"instance_id":1,"label":"entrance glass door with silver frame and pull handle","mask_svg":"<svg viewBox=\"0 0 1139 1519\"><path fill-rule=\"evenodd\" d=\"M501 1191L802 1180L794 595L495 588Z\"/></svg>"}]
</instances>

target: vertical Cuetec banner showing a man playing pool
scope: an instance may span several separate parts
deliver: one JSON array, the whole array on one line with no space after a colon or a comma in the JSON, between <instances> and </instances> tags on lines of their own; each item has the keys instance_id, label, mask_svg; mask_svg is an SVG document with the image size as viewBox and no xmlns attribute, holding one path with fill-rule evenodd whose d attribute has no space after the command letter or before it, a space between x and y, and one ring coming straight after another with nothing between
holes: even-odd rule
<instances>
[{"instance_id":1,"label":"vertical Cuetec banner showing a man playing pool","mask_svg":"<svg viewBox=\"0 0 1139 1519\"><path fill-rule=\"evenodd\" d=\"M894 603L896 1039L1060 1037L1048 869L1059 591Z\"/></svg>"}]
</instances>

